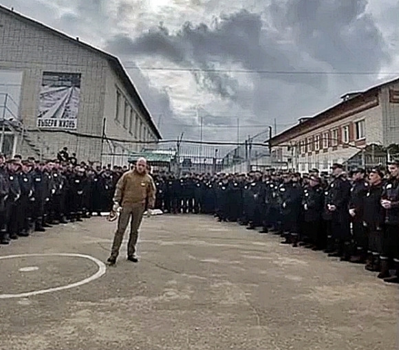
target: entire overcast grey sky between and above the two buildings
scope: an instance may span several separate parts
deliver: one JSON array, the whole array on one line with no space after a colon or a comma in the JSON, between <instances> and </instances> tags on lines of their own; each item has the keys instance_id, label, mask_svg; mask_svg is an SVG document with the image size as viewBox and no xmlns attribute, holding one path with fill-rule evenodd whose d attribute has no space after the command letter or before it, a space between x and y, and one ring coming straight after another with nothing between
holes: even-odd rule
<instances>
[{"instance_id":1,"label":"entire overcast grey sky between and above the two buildings","mask_svg":"<svg viewBox=\"0 0 399 350\"><path fill-rule=\"evenodd\" d=\"M281 131L399 76L398 0L0 3L120 57L166 139L199 139L200 117L209 141L237 140L237 118L241 141Z\"/></svg>"}]
</instances>

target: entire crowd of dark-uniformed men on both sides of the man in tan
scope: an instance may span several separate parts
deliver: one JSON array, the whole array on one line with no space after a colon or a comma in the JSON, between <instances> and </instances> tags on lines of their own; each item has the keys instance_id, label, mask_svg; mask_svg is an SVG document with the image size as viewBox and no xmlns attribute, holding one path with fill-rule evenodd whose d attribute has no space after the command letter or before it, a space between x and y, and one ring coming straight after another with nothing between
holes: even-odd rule
<instances>
[{"instance_id":1,"label":"entire crowd of dark-uniformed men on both sides of the man in tan","mask_svg":"<svg viewBox=\"0 0 399 350\"><path fill-rule=\"evenodd\" d=\"M60 223L110 212L127 166L78 164L61 150L56 160L0 155L0 244ZM155 209L215 215L248 230L280 234L281 243L323 250L365 263L384 281L399 283L399 161L349 174L333 164L330 177L252 171L248 174L154 173Z\"/></svg>"}]
</instances>

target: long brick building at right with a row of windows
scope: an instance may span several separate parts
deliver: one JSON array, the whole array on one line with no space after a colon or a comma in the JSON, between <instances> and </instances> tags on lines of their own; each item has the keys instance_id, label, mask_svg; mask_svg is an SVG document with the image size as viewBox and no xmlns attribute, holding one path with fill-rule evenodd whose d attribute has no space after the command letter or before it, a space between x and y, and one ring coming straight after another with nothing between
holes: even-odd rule
<instances>
[{"instance_id":1,"label":"long brick building at right with a row of windows","mask_svg":"<svg viewBox=\"0 0 399 350\"><path fill-rule=\"evenodd\" d=\"M334 162L348 168L384 162L378 150L399 143L399 79L341 98L270 139L273 162L301 173L328 171Z\"/></svg>"}]
</instances>

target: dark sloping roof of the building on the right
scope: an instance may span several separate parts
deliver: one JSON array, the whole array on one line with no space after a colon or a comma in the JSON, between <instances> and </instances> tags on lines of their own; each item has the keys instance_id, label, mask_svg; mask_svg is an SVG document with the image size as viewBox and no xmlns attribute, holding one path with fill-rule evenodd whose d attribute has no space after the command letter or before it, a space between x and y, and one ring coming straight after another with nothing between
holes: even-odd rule
<instances>
[{"instance_id":1,"label":"dark sloping roof of the building on the right","mask_svg":"<svg viewBox=\"0 0 399 350\"><path fill-rule=\"evenodd\" d=\"M295 138L301 135L301 133L306 133L313 129L317 129L319 127L319 123L324 122L327 118L330 118L330 116L334 115L334 113L336 114L337 112L347 110L349 107L364 104L365 101L369 100L369 98L371 98L372 96L376 96L378 91L380 91L380 89L382 89L383 87L387 87L389 85L393 85L396 83L399 83L399 78L396 78L394 80L389 80L386 83L376 85L365 91L360 91L353 94L352 93L345 94L343 95L343 97L350 95L352 96L352 98L343 100L337 105L334 105L333 107L330 107L329 109L326 109L325 111L316 114L316 116L313 116L308 120L304 120L303 122L296 124L294 127L291 127L290 129L287 129L282 133L279 133L270 140L266 140L266 142L268 142L272 146L277 146L281 142L284 142L290 138Z\"/></svg>"}]
</instances>

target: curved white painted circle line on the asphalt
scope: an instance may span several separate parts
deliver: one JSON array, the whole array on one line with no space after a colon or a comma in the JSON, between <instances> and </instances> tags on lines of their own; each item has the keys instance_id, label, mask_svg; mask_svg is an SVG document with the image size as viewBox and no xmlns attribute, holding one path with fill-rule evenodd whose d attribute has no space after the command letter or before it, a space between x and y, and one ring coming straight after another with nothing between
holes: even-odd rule
<instances>
[{"instance_id":1,"label":"curved white painted circle line on the asphalt","mask_svg":"<svg viewBox=\"0 0 399 350\"><path fill-rule=\"evenodd\" d=\"M35 290L32 292L25 292L25 293L20 293L20 294L0 294L0 299L10 299L10 298L27 298L28 296L34 296L34 295L39 295L39 294L45 294L45 293L52 293L52 292L58 292L60 290L65 290L65 289L71 289L74 287L79 287L80 285L85 285L86 283L89 283L91 281L96 280L97 278L100 278L105 274L107 271L107 267L105 266L105 263L102 261L94 258L93 256L89 255L84 255L84 254L69 254L69 253L54 253L54 254L20 254L20 255L8 255L8 256L0 256L0 260L3 259L16 259L16 258L25 258L25 257L30 257L30 256L69 256L73 258L83 258L83 259L89 259L96 263L98 265L98 270L95 274L81 280L75 283L71 283L69 285L61 285L59 287L54 287L54 288L48 288L48 289L41 289L41 290Z\"/></svg>"}]
</instances>

